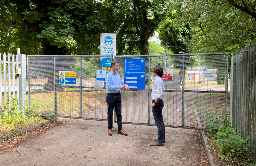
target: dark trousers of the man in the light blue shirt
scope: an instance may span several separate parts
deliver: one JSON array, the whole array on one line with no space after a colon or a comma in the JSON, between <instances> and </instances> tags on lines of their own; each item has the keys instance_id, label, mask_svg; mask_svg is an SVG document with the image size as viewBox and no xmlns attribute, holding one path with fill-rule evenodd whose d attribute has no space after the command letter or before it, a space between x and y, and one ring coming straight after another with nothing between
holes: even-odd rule
<instances>
[{"instance_id":1,"label":"dark trousers of the man in the light blue shirt","mask_svg":"<svg viewBox=\"0 0 256 166\"><path fill-rule=\"evenodd\" d=\"M111 95L107 94L106 102L108 104L108 129L112 129L113 126L113 111L115 109L116 115L117 115L117 126L118 130L122 130L122 100L121 100L121 94L118 95Z\"/></svg>"}]
</instances>

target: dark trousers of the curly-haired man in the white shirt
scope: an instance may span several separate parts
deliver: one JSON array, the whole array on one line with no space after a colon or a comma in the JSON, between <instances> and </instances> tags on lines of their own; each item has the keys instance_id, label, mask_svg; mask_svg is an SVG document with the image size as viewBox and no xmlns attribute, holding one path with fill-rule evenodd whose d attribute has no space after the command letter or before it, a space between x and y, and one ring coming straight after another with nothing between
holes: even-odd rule
<instances>
[{"instance_id":1,"label":"dark trousers of the curly-haired man in the white shirt","mask_svg":"<svg viewBox=\"0 0 256 166\"><path fill-rule=\"evenodd\" d=\"M165 140L165 129L163 123L163 100L159 100L155 104L155 107L152 107L152 112L155 119L155 125L157 126L157 141L163 143L163 140Z\"/></svg>"}]
</instances>

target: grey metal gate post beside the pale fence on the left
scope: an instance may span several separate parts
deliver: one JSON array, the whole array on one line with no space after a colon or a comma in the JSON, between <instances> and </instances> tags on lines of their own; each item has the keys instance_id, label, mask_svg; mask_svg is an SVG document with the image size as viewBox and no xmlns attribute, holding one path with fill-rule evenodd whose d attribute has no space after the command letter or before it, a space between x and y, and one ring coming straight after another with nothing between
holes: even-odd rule
<instances>
[{"instance_id":1,"label":"grey metal gate post beside the pale fence on the left","mask_svg":"<svg viewBox=\"0 0 256 166\"><path fill-rule=\"evenodd\" d=\"M26 108L26 55L19 54L19 69L21 69L21 74L19 77L19 111ZM24 113L24 112L23 112Z\"/></svg>"}]
</instances>

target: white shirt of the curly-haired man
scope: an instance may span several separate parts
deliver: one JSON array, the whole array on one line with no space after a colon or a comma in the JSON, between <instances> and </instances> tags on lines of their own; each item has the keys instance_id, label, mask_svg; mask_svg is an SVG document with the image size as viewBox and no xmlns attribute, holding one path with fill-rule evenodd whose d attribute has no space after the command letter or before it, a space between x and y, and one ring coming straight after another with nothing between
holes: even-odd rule
<instances>
[{"instance_id":1,"label":"white shirt of the curly-haired man","mask_svg":"<svg viewBox=\"0 0 256 166\"><path fill-rule=\"evenodd\" d=\"M164 91L163 80L161 77L156 76L153 89L152 89L152 94L151 94L152 100L155 100L156 98L160 98L160 100L163 99L163 91Z\"/></svg>"}]
</instances>

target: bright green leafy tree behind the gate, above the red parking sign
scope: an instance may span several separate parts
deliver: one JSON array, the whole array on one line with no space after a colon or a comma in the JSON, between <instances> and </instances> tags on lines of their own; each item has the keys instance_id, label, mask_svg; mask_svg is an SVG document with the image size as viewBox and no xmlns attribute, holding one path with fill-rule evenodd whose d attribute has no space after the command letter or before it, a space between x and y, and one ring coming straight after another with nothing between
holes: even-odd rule
<instances>
[{"instance_id":1,"label":"bright green leafy tree behind the gate, above the red parking sign","mask_svg":"<svg viewBox=\"0 0 256 166\"><path fill-rule=\"evenodd\" d=\"M162 41L162 45L169 45L169 49L175 54L190 53L189 41L191 39L192 27L189 22L180 22L180 6L169 6L166 11L166 18L160 23L159 39ZM196 57L185 56L185 59L181 56L174 57L174 65L179 68L180 84L182 84L183 77L183 61L185 60L186 67L194 66L197 61Z\"/></svg>"}]
</instances>

